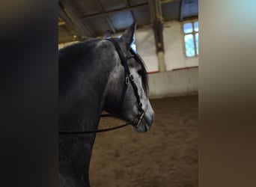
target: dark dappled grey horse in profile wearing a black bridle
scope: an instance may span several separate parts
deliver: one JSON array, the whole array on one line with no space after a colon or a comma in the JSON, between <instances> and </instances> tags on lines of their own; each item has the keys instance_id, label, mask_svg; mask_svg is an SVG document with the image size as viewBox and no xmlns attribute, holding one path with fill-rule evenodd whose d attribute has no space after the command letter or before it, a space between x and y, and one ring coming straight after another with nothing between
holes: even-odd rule
<instances>
[{"instance_id":1,"label":"dark dappled grey horse in profile wearing a black bridle","mask_svg":"<svg viewBox=\"0 0 256 187\"><path fill-rule=\"evenodd\" d=\"M94 39L59 51L59 131L97 129L102 111L146 132L153 123L147 73L130 49L135 23L121 38ZM59 186L90 186L89 164L95 132L59 134Z\"/></svg>"}]
</instances>

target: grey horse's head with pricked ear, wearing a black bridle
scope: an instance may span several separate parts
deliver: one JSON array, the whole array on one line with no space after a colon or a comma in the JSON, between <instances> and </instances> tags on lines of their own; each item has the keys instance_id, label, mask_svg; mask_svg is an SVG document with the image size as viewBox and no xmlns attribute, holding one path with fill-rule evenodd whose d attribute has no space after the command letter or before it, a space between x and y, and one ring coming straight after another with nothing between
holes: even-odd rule
<instances>
[{"instance_id":1,"label":"grey horse's head with pricked ear, wearing a black bridle","mask_svg":"<svg viewBox=\"0 0 256 187\"><path fill-rule=\"evenodd\" d=\"M154 112L147 98L147 72L141 58L130 49L135 23L115 40L120 47L109 42L115 50L115 67L106 87L104 110L122 120L132 121L137 132L146 132L153 123ZM115 46L115 47L114 47ZM122 59L123 56L123 59ZM126 65L127 64L127 65Z\"/></svg>"}]
</instances>

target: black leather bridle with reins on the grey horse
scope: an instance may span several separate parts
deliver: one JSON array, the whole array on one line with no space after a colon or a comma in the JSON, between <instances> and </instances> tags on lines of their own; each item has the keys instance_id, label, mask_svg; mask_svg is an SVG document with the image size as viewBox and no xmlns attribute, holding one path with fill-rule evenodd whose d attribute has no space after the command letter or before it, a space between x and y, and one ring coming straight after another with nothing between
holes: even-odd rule
<instances>
[{"instance_id":1,"label":"black leather bridle with reins on the grey horse","mask_svg":"<svg viewBox=\"0 0 256 187\"><path fill-rule=\"evenodd\" d=\"M123 103L124 103L124 96L125 96L125 93L127 92L127 87L130 83L132 85L136 100L138 102L138 115L137 115L137 117L135 117L135 119L129 121L128 123L124 123L124 124L121 124L119 126L115 126L112 128L95 129L95 130L87 130L87 131L58 131L59 134L76 134L77 135L77 134L88 134L88 133L95 133L95 132L107 132L107 131L111 131L111 130L115 130L115 129L120 129L120 128L122 128L124 126L128 126L128 125L132 125L132 126L135 126L136 128L138 128L141 124L141 120L144 117L146 108L145 109L142 108L142 102L141 102L140 96L138 95L138 87L137 87L137 85L135 85L134 77L132 76L132 74L129 71L129 67L128 67L128 63L127 63L129 58L124 57L124 54L121 52L121 47L119 46L118 42L114 38L107 38L106 40L109 40L110 42L112 42L114 44L115 49L118 52L119 58L121 59L121 64L124 67L125 84L124 84L124 89L123 89L123 93L122 93L122 97L121 97L122 98L121 105L123 105ZM137 54L135 54L135 52L131 49L131 47L128 44L127 44L127 49L129 49L129 52L132 53L131 57L135 58L135 61L142 63L141 58L139 58L139 56ZM102 114L102 115L100 115L100 117L113 117L113 116L112 116L112 114Z\"/></svg>"}]
</instances>

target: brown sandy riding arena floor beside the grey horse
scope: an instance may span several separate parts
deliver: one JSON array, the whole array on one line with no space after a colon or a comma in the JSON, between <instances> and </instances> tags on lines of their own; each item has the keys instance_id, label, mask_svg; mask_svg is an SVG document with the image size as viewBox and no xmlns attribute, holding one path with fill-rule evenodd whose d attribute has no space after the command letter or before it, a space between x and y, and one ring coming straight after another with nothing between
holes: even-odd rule
<instances>
[{"instance_id":1,"label":"brown sandy riding arena floor beside the grey horse","mask_svg":"<svg viewBox=\"0 0 256 187\"><path fill-rule=\"evenodd\" d=\"M98 133L91 186L198 186L198 96L151 99L148 132L125 127ZM100 128L122 123L103 119Z\"/></svg>"}]
</instances>

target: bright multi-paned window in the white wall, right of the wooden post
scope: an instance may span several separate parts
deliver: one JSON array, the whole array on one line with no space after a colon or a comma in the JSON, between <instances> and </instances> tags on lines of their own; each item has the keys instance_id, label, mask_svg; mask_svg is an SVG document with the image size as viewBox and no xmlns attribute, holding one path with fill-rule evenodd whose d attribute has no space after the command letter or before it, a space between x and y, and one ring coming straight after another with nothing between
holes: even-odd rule
<instances>
[{"instance_id":1,"label":"bright multi-paned window in the white wall, right of the wooden post","mask_svg":"<svg viewBox=\"0 0 256 187\"><path fill-rule=\"evenodd\" d=\"M186 57L198 55L198 21L184 23L183 33Z\"/></svg>"}]
</instances>

